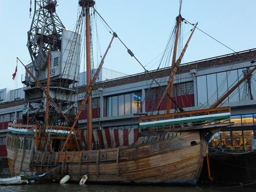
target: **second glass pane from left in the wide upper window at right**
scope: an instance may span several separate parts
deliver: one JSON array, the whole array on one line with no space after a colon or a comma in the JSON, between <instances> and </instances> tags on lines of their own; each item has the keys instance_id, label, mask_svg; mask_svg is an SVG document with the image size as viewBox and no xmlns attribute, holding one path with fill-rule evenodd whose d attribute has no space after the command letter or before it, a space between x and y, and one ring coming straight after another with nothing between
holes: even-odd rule
<instances>
[{"instance_id":1,"label":"second glass pane from left in the wide upper window at right","mask_svg":"<svg viewBox=\"0 0 256 192\"><path fill-rule=\"evenodd\" d=\"M207 75L208 105L217 100L216 74Z\"/></svg>"}]
</instances>

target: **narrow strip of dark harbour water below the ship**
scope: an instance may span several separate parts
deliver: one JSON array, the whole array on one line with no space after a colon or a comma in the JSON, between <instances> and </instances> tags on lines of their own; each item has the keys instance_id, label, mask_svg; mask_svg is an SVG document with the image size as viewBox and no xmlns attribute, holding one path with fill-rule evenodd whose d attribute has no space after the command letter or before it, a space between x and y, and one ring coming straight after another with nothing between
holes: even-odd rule
<instances>
[{"instance_id":1,"label":"narrow strip of dark harbour water below the ship","mask_svg":"<svg viewBox=\"0 0 256 192\"><path fill-rule=\"evenodd\" d=\"M78 184L31 184L31 185L12 185L12 186L0 186L1 192L253 192L255 188L252 186L234 187L217 187L217 186L125 186L125 185L83 185Z\"/></svg>"}]
</instances>

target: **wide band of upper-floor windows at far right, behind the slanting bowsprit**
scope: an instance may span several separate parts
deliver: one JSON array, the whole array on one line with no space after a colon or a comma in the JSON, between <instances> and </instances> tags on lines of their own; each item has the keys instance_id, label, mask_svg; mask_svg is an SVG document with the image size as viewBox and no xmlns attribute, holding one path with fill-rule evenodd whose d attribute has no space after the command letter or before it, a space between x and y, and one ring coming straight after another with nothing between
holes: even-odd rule
<instances>
[{"instance_id":1,"label":"wide band of upper-floor windows at far right, behind the slanting bowsprit","mask_svg":"<svg viewBox=\"0 0 256 192\"><path fill-rule=\"evenodd\" d=\"M196 88L198 97L198 106L205 106L214 104L220 99L235 83L242 79L247 71L247 68L240 68L238 70L223 71L209 75L196 77ZM256 99L256 73L252 75L250 86L252 87L253 99ZM238 102L249 100L248 81L244 81L236 90L223 101Z\"/></svg>"}]
</instances>

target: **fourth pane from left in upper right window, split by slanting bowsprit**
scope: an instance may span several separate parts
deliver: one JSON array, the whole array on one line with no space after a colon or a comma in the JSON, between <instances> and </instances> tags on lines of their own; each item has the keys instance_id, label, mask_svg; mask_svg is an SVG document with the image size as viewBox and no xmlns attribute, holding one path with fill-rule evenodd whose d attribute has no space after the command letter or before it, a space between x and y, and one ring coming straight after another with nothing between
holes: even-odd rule
<instances>
[{"instance_id":1,"label":"fourth pane from left in upper right window, split by slanting bowsprit","mask_svg":"<svg viewBox=\"0 0 256 192\"><path fill-rule=\"evenodd\" d=\"M238 71L232 70L228 72L228 87L232 88L235 83L238 82ZM239 101L239 88L237 88L233 93L229 95L229 102L238 102Z\"/></svg>"}]
</instances>

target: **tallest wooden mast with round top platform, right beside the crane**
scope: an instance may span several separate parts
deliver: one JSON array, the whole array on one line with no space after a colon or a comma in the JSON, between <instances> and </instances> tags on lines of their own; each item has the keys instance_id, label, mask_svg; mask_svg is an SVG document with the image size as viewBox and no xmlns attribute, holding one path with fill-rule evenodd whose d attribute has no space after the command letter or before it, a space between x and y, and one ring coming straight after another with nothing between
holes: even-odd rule
<instances>
[{"instance_id":1,"label":"tallest wooden mast with round top platform, right beside the crane","mask_svg":"<svg viewBox=\"0 0 256 192\"><path fill-rule=\"evenodd\" d=\"M91 84L91 29L90 7L94 6L93 0L80 0L80 6L85 9L86 19L86 81L87 87ZM92 150L92 96L88 97L87 104L87 150Z\"/></svg>"}]
</instances>

